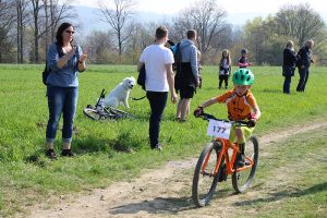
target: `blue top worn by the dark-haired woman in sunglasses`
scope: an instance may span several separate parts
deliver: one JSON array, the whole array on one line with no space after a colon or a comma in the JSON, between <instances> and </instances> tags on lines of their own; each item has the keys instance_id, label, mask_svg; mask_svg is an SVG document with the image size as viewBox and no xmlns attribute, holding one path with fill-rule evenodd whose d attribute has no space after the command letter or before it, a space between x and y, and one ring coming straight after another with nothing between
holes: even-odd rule
<instances>
[{"instance_id":1,"label":"blue top worn by the dark-haired woman in sunglasses","mask_svg":"<svg viewBox=\"0 0 327 218\"><path fill-rule=\"evenodd\" d=\"M47 84L51 86L59 87L78 87L78 59L82 56L82 49L77 46L74 56L68 61L68 63L59 69L57 66L57 61L59 58L59 52L57 50L56 44L51 44L47 53L47 65L50 68L51 72L47 78Z\"/></svg>"}]
</instances>

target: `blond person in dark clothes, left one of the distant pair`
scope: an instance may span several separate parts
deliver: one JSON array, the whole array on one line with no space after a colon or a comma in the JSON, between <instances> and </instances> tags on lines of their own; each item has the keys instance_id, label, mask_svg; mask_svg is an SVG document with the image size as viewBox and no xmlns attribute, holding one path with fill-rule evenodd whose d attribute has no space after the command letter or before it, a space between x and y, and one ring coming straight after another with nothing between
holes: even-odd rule
<instances>
[{"instance_id":1,"label":"blond person in dark clothes, left one of the distant pair","mask_svg":"<svg viewBox=\"0 0 327 218\"><path fill-rule=\"evenodd\" d=\"M294 75L296 55L294 52L294 44L289 40L283 49L282 75L284 76L283 93L290 94L290 85Z\"/></svg>"}]
</instances>

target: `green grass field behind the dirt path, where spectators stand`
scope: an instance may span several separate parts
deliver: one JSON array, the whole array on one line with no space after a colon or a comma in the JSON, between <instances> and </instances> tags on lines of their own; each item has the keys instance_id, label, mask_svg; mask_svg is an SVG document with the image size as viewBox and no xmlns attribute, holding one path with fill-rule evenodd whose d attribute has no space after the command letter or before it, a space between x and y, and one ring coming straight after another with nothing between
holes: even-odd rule
<instances>
[{"instance_id":1,"label":"green grass field behind the dirt path, where spectators stand","mask_svg":"<svg viewBox=\"0 0 327 218\"><path fill-rule=\"evenodd\" d=\"M146 99L130 100L131 109L128 111L137 118L134 120L98 123L86 119L83 108L95 104L102 88L110 90L123 77L137 76L136 66L89 65L80 75L72 144L77 157L50 161L44 156L48 109L40 77L43 68L0 65L0 216L24 211L25 206L43 202L50 195L108 186L114 181L137 177L143 169L158 167L165 161L197 156L203 144L209 140L205 134L206 122L191 117L186 123L175 123L175 106L168 104L160 132L165 150L150 150L147 144L149 106ZM306 92L300 94L294 92L299 80L296 73L291 95L283 95L280 68L254 66L256 78L252 92L263 112L255 134L282 131L290 125L315 120L326 121L326 71L327 68L313 66ZM195 95L192 109L223 92L217 89L217 68L205 66L203 76L204 87ZM144 94L140 87L131 93L134 97ZM207 111L227 117L222 105L215 105ZM58 154L60 138L58 131ZM302 182L305 182L304 179Z\"/></svg>"}]
</instances>

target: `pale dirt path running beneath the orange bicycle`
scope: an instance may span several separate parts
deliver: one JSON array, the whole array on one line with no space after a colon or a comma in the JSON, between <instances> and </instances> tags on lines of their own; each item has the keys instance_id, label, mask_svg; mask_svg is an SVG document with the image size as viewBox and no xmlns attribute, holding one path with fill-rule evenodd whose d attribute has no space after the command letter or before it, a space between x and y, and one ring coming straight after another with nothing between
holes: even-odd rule
<instances>
[{"instance_id":1,"label":"pale dirt path running beneath the orange bicycle","mask_svg":"<svg viewBox=\"0 0 327 218\"><path fill-rule=\"evenodd\" d=\"M264 148L276 141L326 128L327 122L293 126L259 137L259 144ZM162 168L148 171L130 182L114 183L104 190L93 190L74 196L62 196L60 203L51 208L45 205L34 206L29 217L227 217L232 210L229 205L238 204L239 199L232 193L225 194L225 204L217 207L194 207L191 185L196 160L170 161ZM244 195L251 196L253 193L247 192Z\"/></svg>"}]
</instances>

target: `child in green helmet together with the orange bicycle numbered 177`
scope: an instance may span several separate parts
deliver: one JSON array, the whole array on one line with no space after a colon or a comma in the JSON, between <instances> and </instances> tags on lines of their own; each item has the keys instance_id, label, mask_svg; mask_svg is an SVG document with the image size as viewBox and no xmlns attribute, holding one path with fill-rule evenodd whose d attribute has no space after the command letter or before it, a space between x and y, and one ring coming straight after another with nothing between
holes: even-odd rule
<instances>
[{"instance_id":1,"label":"child in green helmet together with the orange bicycle numbered 177","mask_svg":"<svg viewBox=\"0 0 327 218\"><path fill-rule=\"evenodd\" d=\"M209 203L217 183L226 180L227 174L233 174L235 191L244 192L249 187L257 166L258 143L256 137L251 136L255 123L261 117L261 110L250 92L254 75L249 69L239 69L233 73L232 82L234 85L232 90L207 100L194 111L195 117L213 120L209 122L208 134L216 136L204 148L195 168L192 195L197 206L205 206ZM227 105L228 118L231 122L204 113L204 108L216 102ZM250 145L246 146L245 153L246 140ZM231 156L228 153L230 148L233 150ZM202 181L205 179L210 182ZM208 183L210 183L209 187L202 190L203 184L208 185Z\"/></svg>"}]
</instances>

